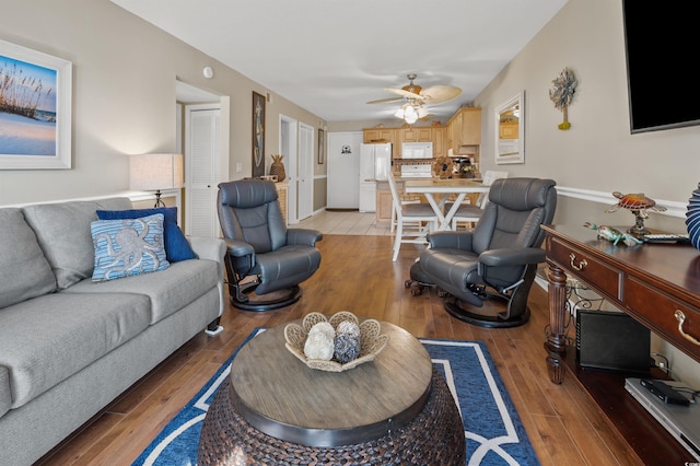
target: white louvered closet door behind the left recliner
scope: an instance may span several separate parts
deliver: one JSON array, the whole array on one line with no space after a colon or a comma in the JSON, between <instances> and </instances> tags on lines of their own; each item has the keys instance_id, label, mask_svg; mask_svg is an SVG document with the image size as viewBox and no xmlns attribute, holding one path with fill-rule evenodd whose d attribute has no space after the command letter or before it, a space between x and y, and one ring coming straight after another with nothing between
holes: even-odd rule
<instances>
[{"instance_id":1,"label":"white louvered closet door behind the left recliner","mask_svg":"<svg viewBox=\"0 0 700 466\"><path fill-rule=\"evenodd\" d=\"M188 107L186 130L188 149L186 225L191 236L220 236L217 217L217 189L219 173L219 108Z\"/></svg>"}]
</instances>

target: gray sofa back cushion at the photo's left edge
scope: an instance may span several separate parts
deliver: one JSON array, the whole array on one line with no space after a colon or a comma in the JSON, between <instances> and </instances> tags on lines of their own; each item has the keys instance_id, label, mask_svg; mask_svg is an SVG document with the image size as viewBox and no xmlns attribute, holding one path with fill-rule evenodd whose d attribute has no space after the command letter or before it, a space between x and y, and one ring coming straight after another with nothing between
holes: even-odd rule
<instances>
[{"instance_id":1,"label":"gray sofa back cushion at the photo's left edge","mask_svg":"<svg viewBox=\"0 0 700 466\"><path fill-rule=\"evenodd\" d=\"M20 209L0 209L0 308L56 290L51 266Z\"/></svg>"}]
</instances>

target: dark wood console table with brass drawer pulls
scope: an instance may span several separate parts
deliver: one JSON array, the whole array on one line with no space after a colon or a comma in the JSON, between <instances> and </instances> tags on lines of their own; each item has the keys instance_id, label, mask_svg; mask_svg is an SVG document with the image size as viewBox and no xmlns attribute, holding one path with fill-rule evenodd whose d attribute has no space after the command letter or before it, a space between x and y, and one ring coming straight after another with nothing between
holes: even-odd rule
<instances>
[{"instance_id":1,"label":"dark wood console table with brass drawer pulls","mask_svg":"<svg viewBox=\"0 0 700 466\"><path fill-rule=\"evenodd\" d=\"M583 225L545 225L549 265L549 378L568 369L646 464L682 464L690 455L625 389L625 374L583 371L567 354L567 275L700 362L700 251L691 245L614 245ZM622 228L619 228L623 231ZM631 375L627 375L631 376ZM660 459L661 463L655 459Z\"/></svg>"}]
</instances>

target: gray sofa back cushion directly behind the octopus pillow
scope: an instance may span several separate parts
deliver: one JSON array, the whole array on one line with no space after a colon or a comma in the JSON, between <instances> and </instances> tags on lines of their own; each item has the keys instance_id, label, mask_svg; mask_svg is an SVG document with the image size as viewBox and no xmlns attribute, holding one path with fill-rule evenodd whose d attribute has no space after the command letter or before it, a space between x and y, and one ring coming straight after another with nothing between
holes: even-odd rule
<instances>
[{"instance_id":1,"label":"gray sofa back cushion directly behind the octopus pillow","mask_svg":"<svg viewBox=\"0 0 700 466\"><path fill-rule=\"evenodd\" d=\"M101 210L130 209L128 198L37 203L23 208L44 255L54 269L59 290L92 277L95 253L90 223Z\"/></svg>"}]
</instances>

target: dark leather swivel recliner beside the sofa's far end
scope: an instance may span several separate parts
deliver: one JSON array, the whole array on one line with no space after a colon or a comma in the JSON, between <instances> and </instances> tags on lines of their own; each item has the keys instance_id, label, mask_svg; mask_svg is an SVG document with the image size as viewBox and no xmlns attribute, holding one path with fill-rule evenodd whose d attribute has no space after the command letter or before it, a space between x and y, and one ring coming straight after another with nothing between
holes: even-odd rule
<instances>
[{"instance_id":1,"label":"dark leather swivel recliner beside the sofa's far end","mask_svg":"<svg viewBox=\"0 0 700 466\"><path fill-rule=\"evenodd\" d=\"M315 244L323 234L287 229L272 182L221 183L217 206L228 246L231 303L246 311L270 311L299 301L299 283L320 265Z\"/></svg>"}]
</instances>

